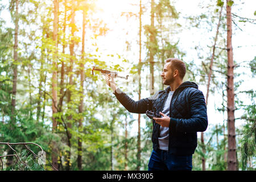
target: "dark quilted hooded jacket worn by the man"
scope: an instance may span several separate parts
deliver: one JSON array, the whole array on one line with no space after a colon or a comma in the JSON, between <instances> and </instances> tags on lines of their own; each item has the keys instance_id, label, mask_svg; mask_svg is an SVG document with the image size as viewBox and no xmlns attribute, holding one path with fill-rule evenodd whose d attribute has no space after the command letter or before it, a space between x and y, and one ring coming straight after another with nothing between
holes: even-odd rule
<instances>
[{"instance_id":1,"label":"dark quilted hooded jacket worn by the man","mask_svg":"<svg viewBox=\"0 0 256 182\"><path fill-rule=\"evenodd\" d=\"M118 101L131 113L146 113L147 104L151 110L163 110L164 102L170 92L170 86L152 97L139 101L132 100L125 93L115 92ZM159 124L153 122L152 143L158 148ZM172 96L170 104L169 151L171 154L191 155L197 147L197 132L207 129L207 107L204 95L194 82L183 82Z\"/></svg>"}]
</instances>

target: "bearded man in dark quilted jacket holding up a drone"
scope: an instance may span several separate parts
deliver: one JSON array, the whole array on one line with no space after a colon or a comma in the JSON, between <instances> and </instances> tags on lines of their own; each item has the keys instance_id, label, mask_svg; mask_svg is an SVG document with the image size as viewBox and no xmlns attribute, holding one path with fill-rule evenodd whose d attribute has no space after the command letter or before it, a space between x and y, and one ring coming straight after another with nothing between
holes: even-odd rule
<instances>
[{"instance_id":1,"label":"bearded man in dark quilted jacket holding up a drone","mask_svg":"<svg viewBox=\"0 0 256 182\"><path fill-rule=\"evenodd\" d=\"M197 132L207 129L208 119L204 95L195 82L183 82L185 72L183 61L167 59L161 77L168 87L139 101L123 93L110 75L105 78L118 101L131 113L146 113L148 105L150 110L162 115L152 118L153 150L148 170L192 170Z\"/></svg>"}]
</instances>

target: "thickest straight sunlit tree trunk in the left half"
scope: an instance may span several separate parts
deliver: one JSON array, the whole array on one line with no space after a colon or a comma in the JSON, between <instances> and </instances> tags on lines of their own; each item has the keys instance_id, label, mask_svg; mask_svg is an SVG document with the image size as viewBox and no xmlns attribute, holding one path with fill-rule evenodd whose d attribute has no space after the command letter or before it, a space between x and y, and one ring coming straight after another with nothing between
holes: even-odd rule
<instances>
[{"instance_id":1,"label":"thickest straight sunlit tree trunk in the left half","mask_svg":"<svg viewBox=\"0 0 256 182\"><path fill-rule=\"evenodd\" d=\"M55 52L53 55L52 65L53 65L53 73L52 73L52 132L55 133L57 128L57 121L55 118L55 113L57 113L57 31L58 31L58 9L59 9L59 1L54 0L54 19L53 19L53 42L55 43ZM55 168L58 168L57 163L58 150L56 147L56 142L53 140L52 142L52 165Z\"/></svg>"}]
</instances>

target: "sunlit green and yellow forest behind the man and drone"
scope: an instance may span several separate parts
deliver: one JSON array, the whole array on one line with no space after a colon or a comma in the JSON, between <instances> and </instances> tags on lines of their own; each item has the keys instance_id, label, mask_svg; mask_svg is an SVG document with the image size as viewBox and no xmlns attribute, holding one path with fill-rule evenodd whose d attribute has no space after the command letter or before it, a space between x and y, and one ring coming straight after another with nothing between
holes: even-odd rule
<instances>
[{"instance_id":1,"label":"sunlit green and yellow forest behind the man and drone","mask_svg":"<svg viewBox=\"0 0 256 182\"><path fill-rule=\"evenodd\" d=\"M207 105L192 170L255 171L255 32L253 0L0 1L0 170L147 170L152 120L92 68L138 101L176 57Z\"/></svg>"}]
</instances>

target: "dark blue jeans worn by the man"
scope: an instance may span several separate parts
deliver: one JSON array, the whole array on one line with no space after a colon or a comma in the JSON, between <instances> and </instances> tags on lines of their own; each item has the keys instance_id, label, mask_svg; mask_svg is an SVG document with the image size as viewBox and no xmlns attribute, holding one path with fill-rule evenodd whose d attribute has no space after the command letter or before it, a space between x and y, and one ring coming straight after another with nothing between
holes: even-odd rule
<instances>
[{"instance_id":1,"label":"dark blue jeans worn by the man","mask_svg":"<svg viewBox=\"0 0 256 182\"><path fill-rule=\"evenodd\" d=\"M153 150L148 162L148 171L191 171L192 155L174 155L164 150Z\"/></svg>"}]
</instances>

